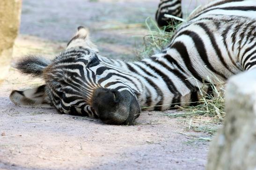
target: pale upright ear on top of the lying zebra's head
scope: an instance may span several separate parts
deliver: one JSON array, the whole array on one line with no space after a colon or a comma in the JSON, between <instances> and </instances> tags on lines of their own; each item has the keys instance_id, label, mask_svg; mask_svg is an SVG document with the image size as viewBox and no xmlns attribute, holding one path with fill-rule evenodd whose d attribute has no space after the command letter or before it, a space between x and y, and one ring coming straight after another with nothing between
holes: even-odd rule
<instances>
[{"instance_id":1,"label":"pale upright ear on top of the lying zebra's head","mask_svg":"<svg viewBox=\"0 0 256 170\"><path fill-rule=\"evenodd\" d=\"M78 27L76 34L73 38L67 43L67 48L74 48L74 47L84 47L90 48L95 52L99 52L97 46L90 40L89 37L89 30L85 27Z\"/></svg>"}]
</instances>

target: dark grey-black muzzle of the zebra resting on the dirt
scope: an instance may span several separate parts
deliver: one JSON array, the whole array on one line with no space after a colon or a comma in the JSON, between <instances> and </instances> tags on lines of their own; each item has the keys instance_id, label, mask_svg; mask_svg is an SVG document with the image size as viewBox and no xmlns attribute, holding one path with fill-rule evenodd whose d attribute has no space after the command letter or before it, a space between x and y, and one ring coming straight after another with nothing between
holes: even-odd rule
<instances>
[{"instance_id":1,"label":"dark grey-black muzzle of the zebra resting on the dirt","mask_svg":"<svg viewBox=\"0 0 256 170\"><path fill-rule=\"evenodd\" d=\"M97 88L92 97L92 106L102 122L131 125L140 115L139 103L128 90Z\"/></svg>"}]
</instances>

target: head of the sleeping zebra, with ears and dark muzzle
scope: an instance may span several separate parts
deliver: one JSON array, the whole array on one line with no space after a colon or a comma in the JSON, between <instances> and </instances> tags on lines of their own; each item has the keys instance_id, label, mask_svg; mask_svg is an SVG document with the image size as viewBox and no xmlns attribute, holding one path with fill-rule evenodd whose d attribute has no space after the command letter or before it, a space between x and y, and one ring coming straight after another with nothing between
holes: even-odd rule
<instances>
[{"instance_id":1,"label":"head of the sleeping zebra, with ears and dark muzzle","mask_svg":"<svg viewBox=\"0 0 256 170\"><path fill-rule=\"evenodd\" d=\"M16 68L45 82L37 88L12 91L10 99L17 105L53 106L63 114L99 117L109 124L131 124L139 117L136 90L122 77L110 76L111 70L115 72L113 61L98 55L84 27L78 27L67 48L53 60L27 56Z\"/></svg>"}]
</instances>

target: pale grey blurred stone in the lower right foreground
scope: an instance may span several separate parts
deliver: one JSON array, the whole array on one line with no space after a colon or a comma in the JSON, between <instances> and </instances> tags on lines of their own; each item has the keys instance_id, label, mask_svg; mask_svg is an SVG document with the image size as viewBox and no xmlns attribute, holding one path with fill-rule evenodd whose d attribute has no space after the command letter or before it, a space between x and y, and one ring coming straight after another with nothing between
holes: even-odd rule
<instances>
[{"instance_id":1,"label":"pale grey blurred stone in the lower right foreground","mask_svg":"<svg viewBox=\"0 0 256 170\"><path fill-rule=\"evenodd\" d=\"M227 82L226 118L206 170L256 170L256 69Z\"/></svg>"}]
</instances>

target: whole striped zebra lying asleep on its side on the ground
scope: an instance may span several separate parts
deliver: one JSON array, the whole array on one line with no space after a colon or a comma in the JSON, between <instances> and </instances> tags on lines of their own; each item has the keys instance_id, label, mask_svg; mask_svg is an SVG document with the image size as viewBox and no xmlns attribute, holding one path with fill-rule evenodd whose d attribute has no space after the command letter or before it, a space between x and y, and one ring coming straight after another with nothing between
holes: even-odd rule
<instances>
[{"instance_id":1,"label":"whole striped zebra lying asleep on its side on the ground","mask_svg":"<svg viewBox=\"0 0 256 170\"><path fill-rule=\"evenodd\" d=\"M142 106L164 110L198 101L203 80L225 82L256 67L256 1L209 3L190 16L165 50L142 61L111 60L97 51L88 31L78 27L54 60L29 56L17 63L22 73L42 77L45 84L14 90L10 99L111 124L131 124Z\"/></svg>"}]
</instances>

